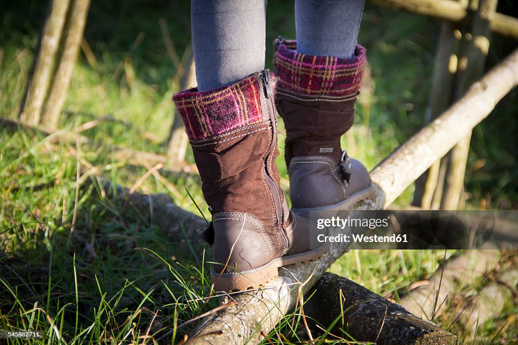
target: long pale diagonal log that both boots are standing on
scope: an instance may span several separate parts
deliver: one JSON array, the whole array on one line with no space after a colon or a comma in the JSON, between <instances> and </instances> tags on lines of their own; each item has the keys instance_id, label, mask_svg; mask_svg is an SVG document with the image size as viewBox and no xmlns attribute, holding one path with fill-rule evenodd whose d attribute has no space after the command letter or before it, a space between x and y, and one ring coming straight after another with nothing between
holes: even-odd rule
<instances>
[{"instance_id":1,"label":"long pale diagonal log that both boots are standing on","mask_svg":"<svg viewBox=\"0 0 518 345\"><path fill-rule=\"evenodd\" d=\"M357 209L390 205L434 161L482 121L516 84L518 50L475 83L448 111L383 160L371 172L375 194L359 203ZM265 289L234 295L235 304L204 318L190 333L189 343L228 345L261 341L261 332L268 333L293 308L298 300L298 289L307 292L346 250L347 244L333 243L319 262L284 267Z\"/></svg>"}]
</instances>

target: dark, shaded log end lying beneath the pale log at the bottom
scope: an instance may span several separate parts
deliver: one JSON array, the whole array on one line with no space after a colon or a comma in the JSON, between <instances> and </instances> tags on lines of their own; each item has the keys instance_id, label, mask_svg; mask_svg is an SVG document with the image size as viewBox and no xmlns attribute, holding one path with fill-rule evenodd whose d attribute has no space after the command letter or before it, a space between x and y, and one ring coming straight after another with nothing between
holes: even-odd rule
<instances>
[{"instance_id":1,"label":"dark, shaded log end lying beneath the pale log at the bottom","mask_svg":"<svg viewBox=\"0 0 518 345\"><path fill-rule=\"evenodd\" d=\"M304 305L306 316L323 324L325 329L338 320L330 332L346 340L350 339L342 335L342 330L358 342L456 343L456 336L436 324L423 321L405 308L335 274L325 273L311 293Z\"/></svg>"}]
</instances>

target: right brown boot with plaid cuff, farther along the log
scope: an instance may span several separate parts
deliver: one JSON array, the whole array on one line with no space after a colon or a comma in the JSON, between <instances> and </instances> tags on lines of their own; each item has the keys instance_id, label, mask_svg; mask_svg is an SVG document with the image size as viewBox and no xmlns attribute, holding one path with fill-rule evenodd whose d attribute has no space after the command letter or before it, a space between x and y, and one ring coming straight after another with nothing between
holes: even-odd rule
<instances>
[{"instance_id":1,"label":"right brown boot with plaid cuff, farther along the log","mask_svg":"<svg viewBox=\"0 0 518 345\"><path fill-rule=\"evenodd\" d=\"M350 209L373 192L362 163L341 151L340 138L354 122L354 104L365 49L339 59L296 52L296 41L279 37L274 64L277 109L286 128L285 159L292 211Z\"/></svg>"}]
</instances>

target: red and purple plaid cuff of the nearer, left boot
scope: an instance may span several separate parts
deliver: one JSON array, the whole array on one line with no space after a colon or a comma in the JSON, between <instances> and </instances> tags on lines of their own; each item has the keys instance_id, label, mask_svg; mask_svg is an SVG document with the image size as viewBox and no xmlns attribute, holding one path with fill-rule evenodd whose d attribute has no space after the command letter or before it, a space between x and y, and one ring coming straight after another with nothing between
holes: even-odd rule
<instances>
[{"instance_id":1,"label":"red and purple plaid cuff of the nearer, left boot","mask_svg":"<svg viewBox=\"0 0 518 345\"><path fill-rule=\"evenodd\" d=\"M189 140L218 136L263 120L261 86L250 76L236 84L198 92L196 87L172 96Z\"/></svg>"}]
</instances>

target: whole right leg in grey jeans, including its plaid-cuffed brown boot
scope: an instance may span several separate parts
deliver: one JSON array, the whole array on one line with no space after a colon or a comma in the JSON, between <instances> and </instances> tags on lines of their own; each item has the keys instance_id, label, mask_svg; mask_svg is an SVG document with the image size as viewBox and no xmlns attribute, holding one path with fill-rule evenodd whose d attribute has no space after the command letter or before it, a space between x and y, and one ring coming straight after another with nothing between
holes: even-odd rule
<instances>
[{"instance_id":1,"label":"whole right leg in grey jeans, including its plaid-cuffed brown boot","mask_svg":"<svg viewBox=\"0 0 518 345\"><path fill-rule=\"evenodd\" d=\"M348 209L373 191L363 164L340 146L354 122L365 65L365 49L356 44L363 5L363 0L296 0L299 41L276 42L277 109L286 128L293 210L299 214L316 207Z\"/></svg>"}]
</instances>

